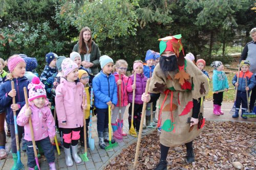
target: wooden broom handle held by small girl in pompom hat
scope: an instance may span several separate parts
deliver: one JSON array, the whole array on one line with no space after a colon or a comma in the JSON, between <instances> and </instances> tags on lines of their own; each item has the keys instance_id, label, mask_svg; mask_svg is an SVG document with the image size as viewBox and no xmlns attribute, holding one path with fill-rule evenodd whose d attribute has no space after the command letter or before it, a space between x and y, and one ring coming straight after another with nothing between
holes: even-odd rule
<instances>
[{"instance_id":1,"label":"wooden broom handle held by small girl in pompom hat","mask_svg":"<svg viewBox=\"0 0 256 170\"><path fill-rule=\"evenodd\" d=\"M29 108L29 101L28 101L28 93L27 93L27 88L23 87L24 90L24 96L25 96L25 101L26 101L26 108ZM39 162L38 162L38 157L37 157L37 151L36 151L36 144L35 144L35 137L34 137L34 131L33 131L33 126L32 126L32 120L31 116L29 116L29 127L30 127L30 133L31 133L31 138L32 138L32 143L33 143L33 149L34 149L34 155L35 155L35 163L38 169L40 170L39 167Z\"/></svg>"}]
</instances>

